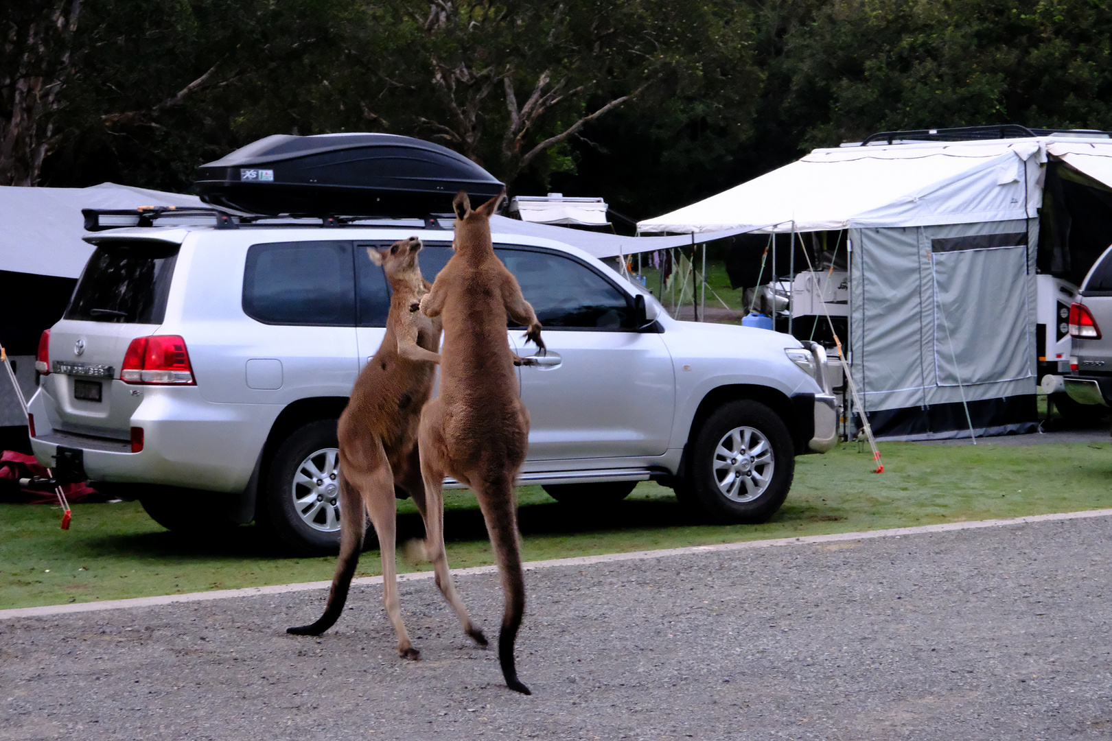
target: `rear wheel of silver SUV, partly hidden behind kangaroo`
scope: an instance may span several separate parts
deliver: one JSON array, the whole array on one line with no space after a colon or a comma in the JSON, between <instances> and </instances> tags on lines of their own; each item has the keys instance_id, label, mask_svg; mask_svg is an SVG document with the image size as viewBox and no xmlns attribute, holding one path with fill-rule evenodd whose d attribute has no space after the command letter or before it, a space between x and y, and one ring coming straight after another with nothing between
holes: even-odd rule
<instances>
[{"instance_id":1,"label":"rear wheel of silver SUV, partly hidden behind kangaroo","mask_svg":"<svg viewBox=\"0 0 1112 741\"><path fill-rule=\"evenodd\" d=\"M290 432L270 458L256 523L286 551L337 553L339 495L336 420L309 422Z\"/></svg>"}]
</instances>

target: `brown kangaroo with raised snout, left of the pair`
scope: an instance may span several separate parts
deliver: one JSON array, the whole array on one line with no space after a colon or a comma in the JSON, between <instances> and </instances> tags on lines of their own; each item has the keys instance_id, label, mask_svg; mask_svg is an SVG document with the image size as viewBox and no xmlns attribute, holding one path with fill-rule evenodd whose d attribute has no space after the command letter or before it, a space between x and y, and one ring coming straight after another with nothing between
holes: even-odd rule
<instances>
[{"instance_id":1,"label":"brown kangaroo with raised snout, left of the pair","mask_svg":"<svg viewBox=\"0 0 1112 741\"><path fill-rule=\"evenodd\" d=\"M394 296L386 319L386 337L383 338L378 352L356 380L337 429L342 515L339 562L325 614L310 625L287 629L287 632L297 635L319 635L336 623L359 563L366 529L363 512L366 507L375 532L378 533L383 554L383 599L386 612L398 634L398 653L406 659L417 659L419 652L409 642L398 607L395 485L414 498L429 535L443 532L444 529L444 502L439 495L439 485L436 503L429 507L417 454L419 412L433 392L436 364L440 362L440 356L437 354L440 321L429 319L418 310L421 297L431 288L431 283L421 277L417 264L420 248L420 240L410 237L396 242L387 251L367 249L371 261L383 266ZM486 638L471 624L467 610L448 578L443 535L438 541L428 542L438 542L441 550L441 565L436 572L437 585L455 608L467 634L480 645L486 645ZM426 550L431 549L426 547Z\"/></svg>"}]
</instances>

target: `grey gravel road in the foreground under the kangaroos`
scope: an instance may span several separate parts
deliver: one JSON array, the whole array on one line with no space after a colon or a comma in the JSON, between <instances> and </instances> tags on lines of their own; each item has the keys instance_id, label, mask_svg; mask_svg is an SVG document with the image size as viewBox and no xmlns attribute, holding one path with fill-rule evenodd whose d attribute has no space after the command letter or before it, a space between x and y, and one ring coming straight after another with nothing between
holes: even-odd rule
<instances>
[{"instance_id":1,"label":"grey gravel road in the foreground under the kangaroos","mask_svg":"<svg viewBox=\"0 0 1112 741\"><path fill-rule=\"evenodd\" d=\"M518 669L404 582L0 621L0 739L1106 739L1112 518L547 568ZM494 574L457 580L497 633Z\"/></svg>"}]
</instances>

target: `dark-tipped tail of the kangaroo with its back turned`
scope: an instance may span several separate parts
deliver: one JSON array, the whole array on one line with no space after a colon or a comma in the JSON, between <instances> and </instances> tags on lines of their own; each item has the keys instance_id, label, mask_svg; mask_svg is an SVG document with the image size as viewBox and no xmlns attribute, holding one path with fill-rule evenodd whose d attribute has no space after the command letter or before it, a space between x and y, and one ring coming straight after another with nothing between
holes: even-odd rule
<instances>
[{"instance_id":1,"label":"dark-tipped tail of the kangaroo with its back turned","mask_svg":"<svg viewBox=\"0 0 1112 741\"><path fill-rule=\"evenodd\" d=\"M522 554L517 548L517 507L513 481L506 480L492 487L483 498L483 513L490 533L490 544L498 559L502 572L502 589L506 605L502 617L502 632L498 634L498 663L506 685L515 692L532 694L529 688L517 679L514 662L514 642L525 614L525 577L522 573Z\"/></svg>"}]
</instances>

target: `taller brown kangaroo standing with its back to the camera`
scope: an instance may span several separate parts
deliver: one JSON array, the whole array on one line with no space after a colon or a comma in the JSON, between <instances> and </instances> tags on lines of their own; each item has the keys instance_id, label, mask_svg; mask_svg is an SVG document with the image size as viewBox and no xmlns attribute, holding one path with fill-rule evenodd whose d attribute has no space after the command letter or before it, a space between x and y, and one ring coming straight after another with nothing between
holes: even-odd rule
<instances>
[{"instance_id":1,"label":"taller brown kangaroo standing with its back to the camera","mask_svg":"<svg viewBox=\"0 0 1112 741\"><path fill-rule=\"evenodd\" d=\"M440 395L425 404L418 439L429 510L444 501L446 474L478 499L506 599L498 660L509 689L529 694L514 665L514 640L525 612L515 479L528 448L529 413L518 398L514 364L520 359L506 340L506 314L528 328L526 337L538 348L545 346L533 307L490 241L490 214L505 194L474 211L464 191L453 201L456 251L420 301L426 316L443 318L444 354ZM440 543L437 558L444 559L443 531L435 538L429 531L426 542ZM446 563L443 568L447 571Z\"/></svg>"}]
</instances>

